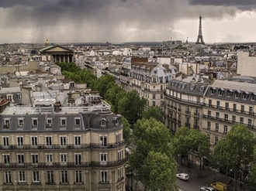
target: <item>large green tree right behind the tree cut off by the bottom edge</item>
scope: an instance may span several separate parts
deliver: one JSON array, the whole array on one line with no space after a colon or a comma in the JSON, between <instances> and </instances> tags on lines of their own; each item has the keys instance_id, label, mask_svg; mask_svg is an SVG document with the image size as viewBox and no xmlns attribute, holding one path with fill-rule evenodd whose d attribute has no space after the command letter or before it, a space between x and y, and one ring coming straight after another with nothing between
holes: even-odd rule
<instances>
[{"instance_id":1,"label":"large green tree right behind the tree cut off by the bottom edge","mask_svg":"<svg viewBox=\"0 0 256 191\"><path fill-rule=\"evenodd\" d=\"M171 148L171 133L164 124L155 118L143 118L137 121L133 129L133 143L136 148L130 154L129 162L137 179L141 181L147 177L143 169L145 168L145 159L150 152L168 155L171 162L176 164Z\"/></svg>"}]
</instances>

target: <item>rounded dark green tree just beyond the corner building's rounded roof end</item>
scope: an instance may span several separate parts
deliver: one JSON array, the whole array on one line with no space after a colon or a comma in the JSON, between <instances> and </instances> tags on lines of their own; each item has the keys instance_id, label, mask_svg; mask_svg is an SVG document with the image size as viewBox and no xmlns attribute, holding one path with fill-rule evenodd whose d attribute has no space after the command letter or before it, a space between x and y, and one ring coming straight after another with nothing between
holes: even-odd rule
<instances>
[{"instance_id":1,"label":"rounded dark green tree just beyond the corner building's rounded roof end","mask_svg":"<svg viewBox=\"0 0 256 191\"><path fill-rule=\"evenodd\" d=\"M129 122L136 122L142 118L142 113L147 105L147 100L138 94L137 90L130 90L118 103L119 114Z\"/></svg>"}]
</instances>

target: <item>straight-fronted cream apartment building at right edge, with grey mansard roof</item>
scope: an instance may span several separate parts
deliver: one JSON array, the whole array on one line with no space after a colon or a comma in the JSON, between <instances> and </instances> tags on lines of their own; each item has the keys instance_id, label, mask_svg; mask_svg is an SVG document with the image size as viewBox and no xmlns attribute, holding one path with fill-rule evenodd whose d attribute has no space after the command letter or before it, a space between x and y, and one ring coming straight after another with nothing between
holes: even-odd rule
<instances>
[{"instance_id":1,"label":"straight-fronted cream apartment building at right edge, with grey mansard roof","mask_svg":"<svg viewBox=\"0 0 256 191\"><path fill-rule=\"evenodd\" d=\"M245 124L256 135L256 84L215 80L204 99L202 131L208 135L211 145L225 138L234 124Z\"/></svg>"}]
</instances>

